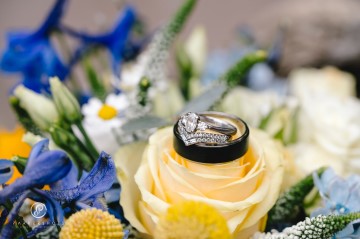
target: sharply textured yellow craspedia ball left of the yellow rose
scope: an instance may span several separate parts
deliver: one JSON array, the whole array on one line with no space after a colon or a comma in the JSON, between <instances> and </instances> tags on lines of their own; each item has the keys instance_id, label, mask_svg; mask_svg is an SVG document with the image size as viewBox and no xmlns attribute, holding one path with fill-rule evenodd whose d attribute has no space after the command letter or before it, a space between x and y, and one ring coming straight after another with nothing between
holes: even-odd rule
<instances>
[{"instance_id":1,"label":"sharply textured yellow craspedia ball left of the yellow rose","mask_svg":"<svg viewBox=\"0 0 360 239\"><path fill-rule=\"evenodd\" d=\"M65 221L60 239L115 239L124 236L121 223L113 215L91 208L73 214Z\"/></svg>"}]
</instances>

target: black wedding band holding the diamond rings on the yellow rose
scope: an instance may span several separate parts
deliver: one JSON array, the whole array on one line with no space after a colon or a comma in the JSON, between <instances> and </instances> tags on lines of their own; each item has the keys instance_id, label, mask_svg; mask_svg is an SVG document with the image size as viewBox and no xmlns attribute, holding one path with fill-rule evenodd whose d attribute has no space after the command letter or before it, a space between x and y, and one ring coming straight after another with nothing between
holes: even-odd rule
<instances>
[{"instance_id":1,"label":"black wedding band holding the diamond rings on the yellow rose","mask_svg":"<svg viewBox=\"0 0 360 239\"><path fill-rule=\"evenodd\" d=\"M199 163L225 163L242 157L248 150L249 128L240 118L221 112L202 112L202 115L212 118L223 118L231 122L242 132L239 137L226 143L197 143L186 145L178 131L179 121L174 125L173 145L175 151L182 157Z\"/></svg>"}]
</instances>

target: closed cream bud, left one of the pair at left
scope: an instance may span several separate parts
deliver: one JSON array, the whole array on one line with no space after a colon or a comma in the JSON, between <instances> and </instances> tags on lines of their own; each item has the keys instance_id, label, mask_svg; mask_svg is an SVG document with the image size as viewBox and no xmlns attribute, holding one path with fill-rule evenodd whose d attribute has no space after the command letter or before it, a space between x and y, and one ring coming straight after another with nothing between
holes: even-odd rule
<instances>
[{"instance_id":1,"label":"closed cream bud, left one of the pair at left","mask_svg":"<svg viewBox=\"0 0 360 239\"><path fill-rule=\"evenodd\" d=\"M21 107L28 112L39 128L48 130L52 124L59 122L60 116L54 102L49 98L27 89L23 85L15 88L14 95L20 100Z\"/></svg>"}]
</instances>

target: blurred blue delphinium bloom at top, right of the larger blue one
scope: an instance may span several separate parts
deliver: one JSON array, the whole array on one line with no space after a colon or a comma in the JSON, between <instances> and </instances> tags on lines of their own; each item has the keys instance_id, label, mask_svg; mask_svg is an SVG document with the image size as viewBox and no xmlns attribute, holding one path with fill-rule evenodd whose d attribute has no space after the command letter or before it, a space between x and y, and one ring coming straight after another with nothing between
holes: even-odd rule
<instances>
[{"instance_id":1,"label":"blurred blue delphinium bloom at top, right of the larger blue one","mask_svg":"<svg viewBox=\"0 0 360 239\"><path fill-rule=\"evenodd\" d=\"M115 23L115 26L108 32L105 32L100 35L90 35L84 32L75 31L67 26L60 26L60 29L76 38L79 38L86 47L91 47L94 45L100 45L105 48L110 53L111 58L111 67L113 73L119 77L120 76L120 64L124 56L128 56L129 52L129 34L131 29L136 21L135 10L127 6L124 8L122 14ZM133 44L133 51L138 52L141 44ZM75 55L79 52L86 51L84 46L81 46ZM137 49L137 50L136 50Z\"/></svg>"}]
</instances>

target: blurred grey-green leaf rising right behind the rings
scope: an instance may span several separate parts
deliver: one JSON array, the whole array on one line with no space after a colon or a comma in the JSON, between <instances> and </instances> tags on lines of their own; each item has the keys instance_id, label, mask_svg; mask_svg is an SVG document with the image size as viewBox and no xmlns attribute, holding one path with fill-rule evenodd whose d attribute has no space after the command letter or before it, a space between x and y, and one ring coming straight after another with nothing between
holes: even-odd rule
<instances>
[{"instance_id":1,"label":"blurred grey-green leaf rising right behind the rings","mask_svg":"<svg viewBox=\"0 0 360 239\"><path fill-rule=\"evenodd\" d=\"M210 89L187 103L179 112L179 115L187 112L201 112L209 110L222 98L226 91L227 87L222 83L213 85Z\"/></svg>"}]
</instances>

